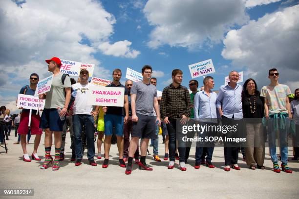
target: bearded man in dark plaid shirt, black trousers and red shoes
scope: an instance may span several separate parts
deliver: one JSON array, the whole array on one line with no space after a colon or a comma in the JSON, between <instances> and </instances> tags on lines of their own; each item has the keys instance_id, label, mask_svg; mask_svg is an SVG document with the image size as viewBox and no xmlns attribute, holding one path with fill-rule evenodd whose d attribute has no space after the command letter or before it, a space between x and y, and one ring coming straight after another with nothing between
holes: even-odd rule
<instances>
[{"instance_id":1,"label":"bearded man in dark plaid shirt, black trousers and red shoes","mask_svg":"<svg viewBox=\"0 0 299 199\"><path fill-rule=\"evenodd\" d=\"M161 118L167 124L169 134L169 169L174 167L176 148L176 119L181 119L181 123L186 123L191 115L192 103L189 91L181 85L183 72L179 69L172 71L172 83L163 89L161 100ZM186 171L185 147L178 147L179 165L182 171Z\"/></svg>"}]
</instances>

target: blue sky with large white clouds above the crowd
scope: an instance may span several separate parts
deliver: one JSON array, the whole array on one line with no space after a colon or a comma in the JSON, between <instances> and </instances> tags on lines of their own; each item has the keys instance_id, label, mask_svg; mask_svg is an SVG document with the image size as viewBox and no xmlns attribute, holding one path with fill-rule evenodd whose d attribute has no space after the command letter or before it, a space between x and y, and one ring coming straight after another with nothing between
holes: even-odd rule
<instances>
[{"instance_id":1,"label":"blue sky with large white clouds above the crowd","mask_svg":"<svg viewBox=\"0 0 299 199\"><path fill-rule=\"evenodd\" d=\"M33 72L49 75L51 57L94 63L96 77L111 80L115 68L141 72L152 66L157 89L171 71L212 59L215 90L231 70L244 71L258 87L276 67L280 82L299 87L298 0L5 0L0 5L0 104L14 100ZM53 10L57 10L53 12ZM202 84L203 78L197 78Z\"/></svg>"}]
</instances>

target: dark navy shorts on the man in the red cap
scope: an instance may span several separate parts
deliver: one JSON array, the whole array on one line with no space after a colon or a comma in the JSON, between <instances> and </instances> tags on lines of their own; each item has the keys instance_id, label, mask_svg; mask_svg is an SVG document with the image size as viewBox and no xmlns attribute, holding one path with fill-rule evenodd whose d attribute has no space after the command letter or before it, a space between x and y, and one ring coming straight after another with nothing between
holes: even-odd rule
<instances>
[{"instance_id":1,"label":"dark navy shorts on the man in the red cap","mask_svg":"<svg viewBox=\"0 0 299 199\"><path fill-rule=\"evenodd\" d=\"M50 129L50 131L63 131L64 120L61 120L57 108L45 108L40 121L40 128Z\"/></svg>"}]
</instances>

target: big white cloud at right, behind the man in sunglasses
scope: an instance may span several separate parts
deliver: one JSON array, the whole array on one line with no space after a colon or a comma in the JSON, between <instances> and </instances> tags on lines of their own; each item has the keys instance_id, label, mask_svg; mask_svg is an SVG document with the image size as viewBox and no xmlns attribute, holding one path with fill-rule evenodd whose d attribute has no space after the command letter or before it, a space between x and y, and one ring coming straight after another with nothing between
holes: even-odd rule
<instances>
[{"instance_id":1,"label":"big white cloud at right, behind the man in sunglasses","mask_svg":"<svg viewBox=\"0 0 299 199\"><path fill-rule=\"evenodd\" d=\"M294 90L299 77L299 5L266 14L252 20L239 30L228 32L221 55L239 68L245 67L244 77L269 84L268 70L277 68L279 81L289 82ZM298 87L298 86L297 86Z\"/></svg>"}]
</instances>

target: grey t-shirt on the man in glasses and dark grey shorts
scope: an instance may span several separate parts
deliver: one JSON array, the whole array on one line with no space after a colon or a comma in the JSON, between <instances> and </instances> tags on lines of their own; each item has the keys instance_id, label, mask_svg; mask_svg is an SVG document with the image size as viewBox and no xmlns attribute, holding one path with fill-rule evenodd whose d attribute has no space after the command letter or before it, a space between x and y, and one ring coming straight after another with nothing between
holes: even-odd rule
<instances>
[{"instance_id":1,"label":"grey t-shirt on the man in glasses and dark grey shorts","mask_svg":"<svg viewBox=\"0 0 299 199\"><path fill-rule=\"evenodd\" d=\"M153 101L157 97L157 89L152 84L145 84L142 81L134 82L131 87L131 94L136 96L136 113L154 116Z\"/></svg>"}]
</instances>

